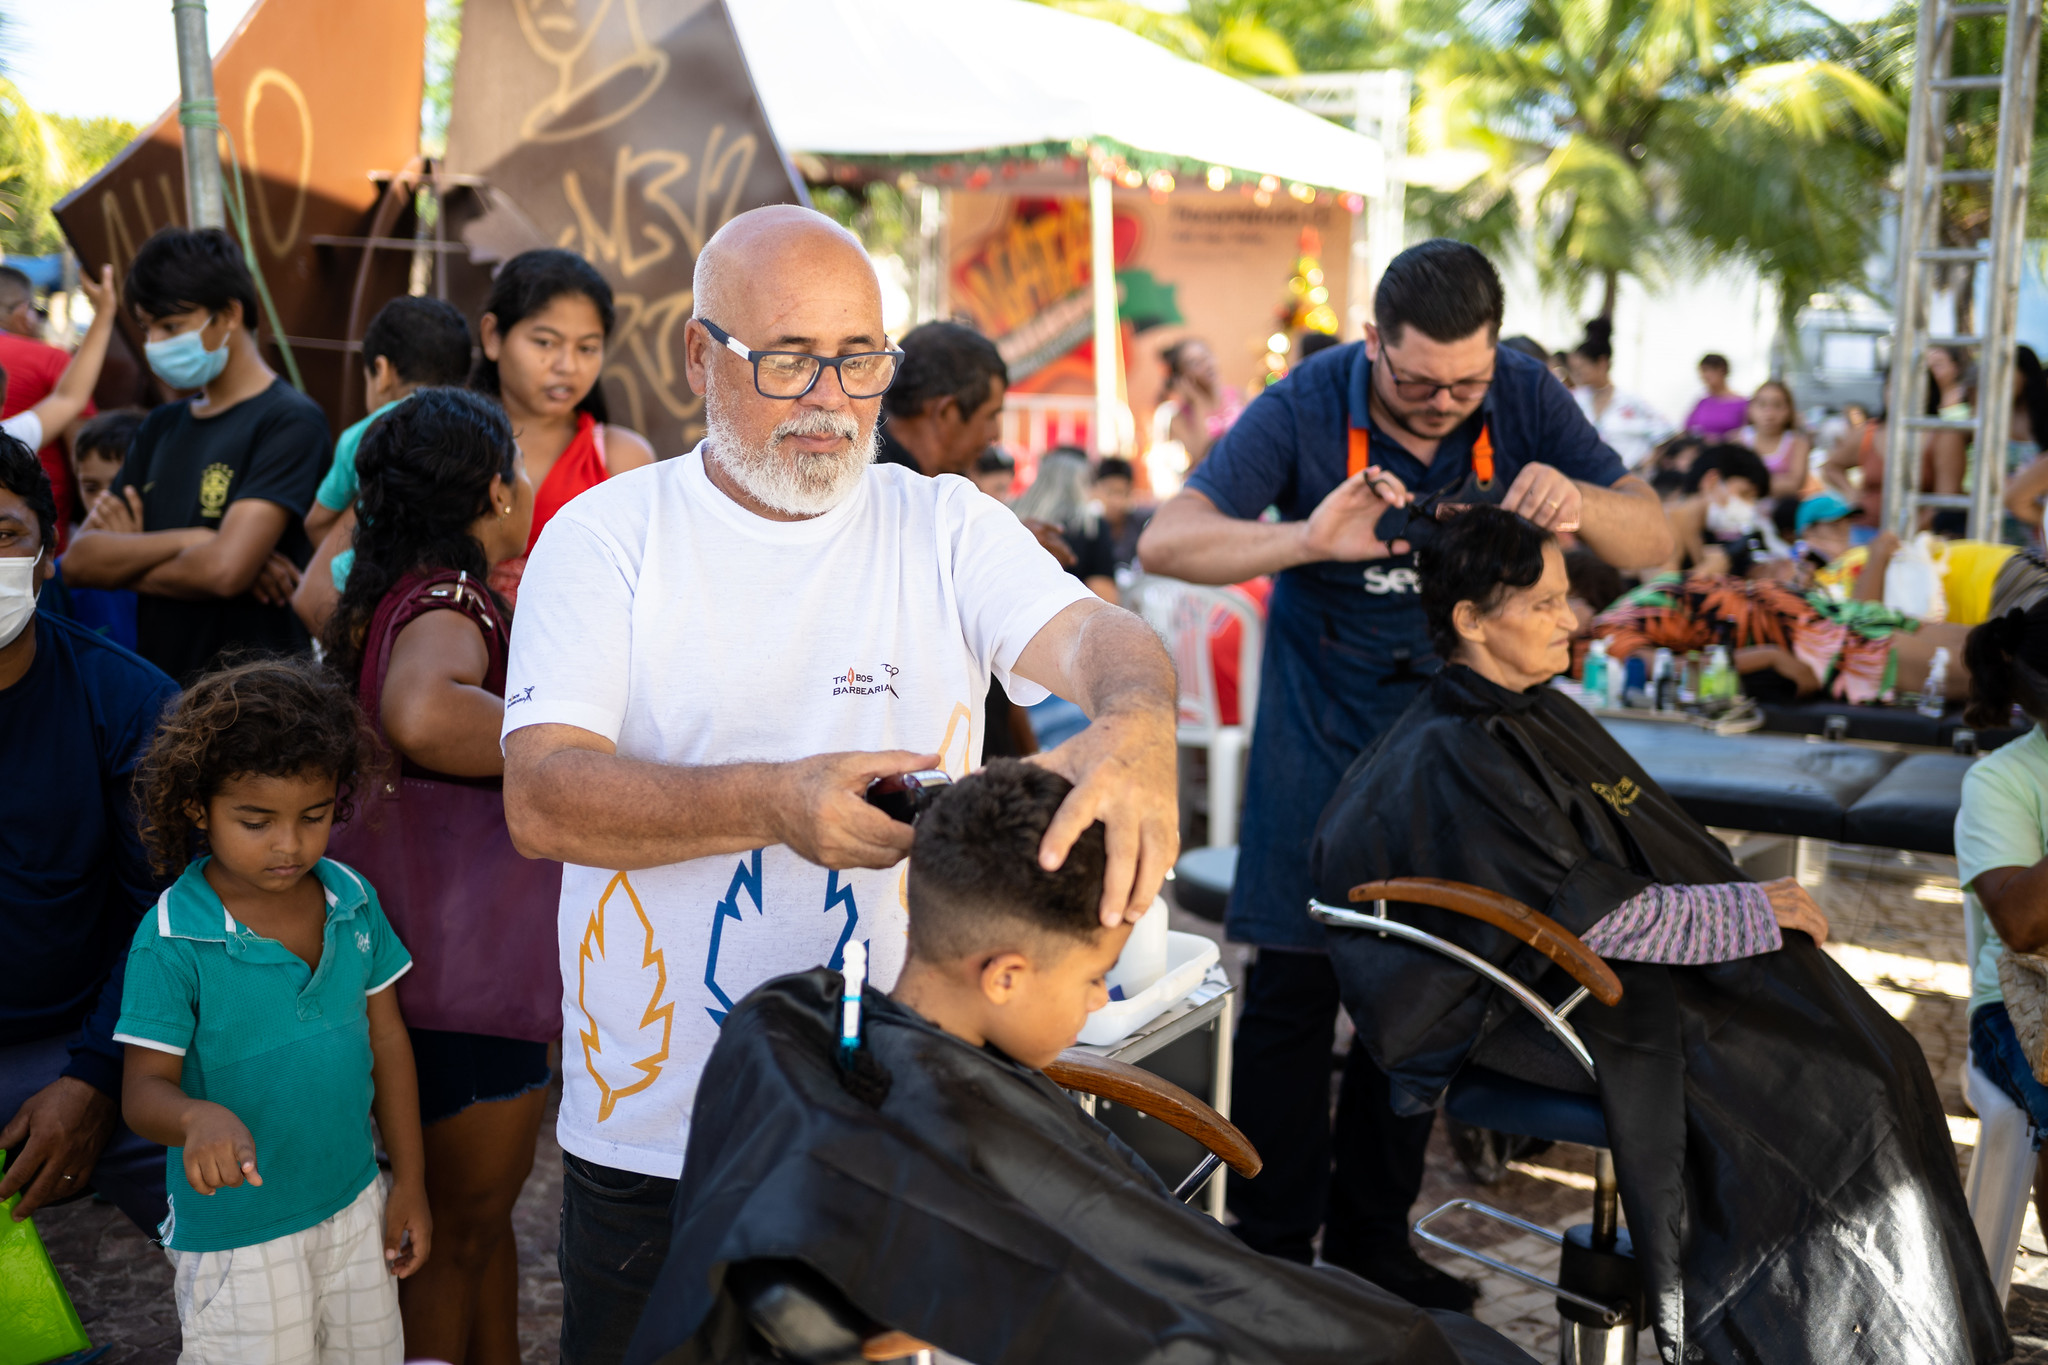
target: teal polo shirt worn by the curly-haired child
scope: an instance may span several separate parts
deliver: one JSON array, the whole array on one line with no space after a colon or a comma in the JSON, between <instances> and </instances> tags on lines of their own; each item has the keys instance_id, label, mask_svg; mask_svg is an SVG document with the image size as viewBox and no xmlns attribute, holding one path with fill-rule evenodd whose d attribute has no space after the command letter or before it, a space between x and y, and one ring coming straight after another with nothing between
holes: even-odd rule
<instances>
[{"instance_id":1,"label":"teal polo shirt worn by the curly-haired child","mask_svg":"<svg viewBox=\"0 0 2048 1365\"><path fill-rule=\"evenodd\" d=\"M231 1250L303 1232L377 1179L369 997L412 966L350 868L324 857L319 970L227 915L201 857L143 915L129 948L115 1038L184 1058L180 1087L233 1111L256 1140L262 1185L201 1195L170 1148L172 1250Z\"/></svg>"}]
</instances>

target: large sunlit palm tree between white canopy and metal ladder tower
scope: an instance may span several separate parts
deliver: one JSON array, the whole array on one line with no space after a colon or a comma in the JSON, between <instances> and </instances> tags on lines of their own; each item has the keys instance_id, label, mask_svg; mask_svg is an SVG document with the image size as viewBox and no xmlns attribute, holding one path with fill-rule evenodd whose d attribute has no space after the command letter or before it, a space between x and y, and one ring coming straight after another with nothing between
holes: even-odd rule
<instances>
[{"instance_id":1,"label":"large sunlit palm tree between white canopy and metal ladder tower","mask_svg":"<svg viewBox=\"0 0 2048 1365\"><path fill-rule=\"evenodd\" d=\"M1573 295L1671 262L1749 260L1790 317L1860 284L1905 111L1858 35L1806 4L1481 0L1444 10L1417 72L1417 151L1485 153L1432 229L1505 246L1534 215L1542 278Z\"/></svg>"}]
</instances>

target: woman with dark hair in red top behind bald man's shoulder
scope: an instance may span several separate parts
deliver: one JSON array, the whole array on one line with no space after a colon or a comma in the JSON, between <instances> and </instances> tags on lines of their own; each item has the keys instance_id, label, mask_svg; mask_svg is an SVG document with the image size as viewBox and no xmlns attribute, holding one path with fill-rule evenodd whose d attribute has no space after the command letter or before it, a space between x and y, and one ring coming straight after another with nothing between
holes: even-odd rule
<instances>
[{"instance_id":1,"label":"woman with dark hair in red top behind bald man's shoulder","mask_svg":"<svg viewBox=\"0 0 2048 1365\"><path fill-rule=\"evenodd\" d=\"M639 432L604 409L604 346L610 342L612 287L596 266L559 248L520 252L492 280L477 317L481 358L469 387L504 403L535 487L532 532L584 489L653 463ZM494 571L492 587L518 600L526 553Z\"/></svg>"}]
</instances>

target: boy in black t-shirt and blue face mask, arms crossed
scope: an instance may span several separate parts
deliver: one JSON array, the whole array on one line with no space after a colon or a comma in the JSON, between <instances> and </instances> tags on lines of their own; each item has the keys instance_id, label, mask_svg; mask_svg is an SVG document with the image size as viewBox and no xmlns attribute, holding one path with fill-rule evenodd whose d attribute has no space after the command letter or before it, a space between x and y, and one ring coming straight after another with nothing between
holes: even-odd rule
<instances>
[{"instance_id":1,"label":"boy in black t-shirt and blue face mask, arms crossed","mask_svg":"<svg viewBox=\"0 0 2048 1365\"><path fill-rule=\"evenodd\" d=\"M256 282L227 233L162 229L123 293L150 370L197 393L143 422L63 555L66 581L137 591L137 651L184 681L227 649L305 649L291 593L313 553L326 413L264 364Z\"/></svg>"}]
</instances>

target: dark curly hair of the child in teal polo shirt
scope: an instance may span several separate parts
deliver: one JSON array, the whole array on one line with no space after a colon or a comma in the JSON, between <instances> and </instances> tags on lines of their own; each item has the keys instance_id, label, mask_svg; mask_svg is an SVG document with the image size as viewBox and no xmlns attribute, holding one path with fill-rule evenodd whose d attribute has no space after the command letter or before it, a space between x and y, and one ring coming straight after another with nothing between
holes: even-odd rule
<instances>
[{"instance_id":1,"label":"dark curly hair of the child in teal polo shirt","mask_svg":"<svg viewBox=\"0 0 2048 1365\"><path fill-rule=\"evenodd\" d=\"M207 673L164 716L135 772L141 843L158 876L199 853L195 819L229 780L334 774L334 823L350 814L369 751L348 686L311 659L256 659Z\"/></svg>"}]
</instances>

